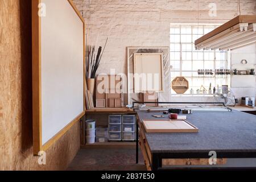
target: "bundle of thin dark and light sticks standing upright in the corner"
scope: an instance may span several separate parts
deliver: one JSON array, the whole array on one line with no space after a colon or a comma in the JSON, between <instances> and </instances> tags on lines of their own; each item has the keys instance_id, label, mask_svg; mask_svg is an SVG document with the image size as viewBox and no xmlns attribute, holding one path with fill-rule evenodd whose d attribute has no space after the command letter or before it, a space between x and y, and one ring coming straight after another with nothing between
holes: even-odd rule
<instances>
[{"instance_id":1,"label":"bundle of thin dark and light sticks standing upright in the corner","mask_svg":"<svg viewBox=\"0 0 256 182\"><path fill-rule=\"evenodd\" d=\"M100 61L102 55L105 51L106 44L108 43L108 39L106 39L106 43L104 48L98 47L98 52L96 55L96 46L87 46L86 45L86 56L85 56L85 65L86 65L86 78L95 78L98 67L100 66ZM87 44L87 43L86 43Z\"/></svg>"}]
</instances>

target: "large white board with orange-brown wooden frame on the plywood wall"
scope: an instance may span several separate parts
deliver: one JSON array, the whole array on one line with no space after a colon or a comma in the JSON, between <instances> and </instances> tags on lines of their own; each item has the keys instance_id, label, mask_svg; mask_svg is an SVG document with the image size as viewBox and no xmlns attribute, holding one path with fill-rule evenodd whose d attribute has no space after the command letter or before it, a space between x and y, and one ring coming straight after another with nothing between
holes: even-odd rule
<instances>
[{"instance_id":1,"label":"large white board with orange-brown wooden frame on the plywood wall","mask_svg":"<svg viewBox=\"0 0 256 182\"><path fill-rule=\"evenodd\" d=\"M34 155L85 113L85 23L71 0L32 1Z\"/></svg>"}]
</instances>

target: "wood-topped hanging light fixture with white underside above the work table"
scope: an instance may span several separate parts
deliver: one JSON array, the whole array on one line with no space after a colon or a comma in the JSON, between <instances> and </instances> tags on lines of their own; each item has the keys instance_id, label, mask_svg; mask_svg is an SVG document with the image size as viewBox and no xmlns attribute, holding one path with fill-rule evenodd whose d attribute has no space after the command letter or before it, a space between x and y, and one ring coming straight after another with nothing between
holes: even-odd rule
<instances>
[{"instance_id":1,"label":"wood-topped hanging light fixture with white underside above the work table","mask_svg":"<svg viewBox=\"0 0 256 182\"><path fill-rule=\"evenodd\" d=\"M234 50L256 43L256 15L239 15L195 41L197 50Z\"/></svg>"}]
</instances>

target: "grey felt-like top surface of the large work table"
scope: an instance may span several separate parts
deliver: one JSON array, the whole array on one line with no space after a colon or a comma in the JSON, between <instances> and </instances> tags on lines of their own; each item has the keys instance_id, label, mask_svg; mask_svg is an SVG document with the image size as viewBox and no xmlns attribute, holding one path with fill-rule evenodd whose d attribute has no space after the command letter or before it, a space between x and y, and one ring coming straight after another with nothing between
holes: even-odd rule
<instances>
[{"instance_id":1,"label":"grey felt-like top surface of the large work table","mask_svg":"<svg viewBox=\"0 0 256 182\"><path fill-rule=\"evenodd\" d=\"M154 114L163 115L138 111L141 122L156 119ZM256 115L236 110L197 112L188 114L187 121L198 127L199 133L146 133L151 152L256 152Z\"/></svg>"}]
</instances>

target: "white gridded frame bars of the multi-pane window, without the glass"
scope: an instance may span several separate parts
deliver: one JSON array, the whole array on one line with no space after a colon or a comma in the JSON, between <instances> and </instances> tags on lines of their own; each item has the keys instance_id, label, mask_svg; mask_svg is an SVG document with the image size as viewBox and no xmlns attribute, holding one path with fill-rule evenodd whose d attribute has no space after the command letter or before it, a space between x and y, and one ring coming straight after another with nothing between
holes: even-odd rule
<instances>
[{"instance_id":1,"label":"white gridded frame bars of the multi-pane window, without the glass","mask_svg":"<svg viewBox=\"0 0 256 182\"><path fill-rule=\"evenodd\" d=\"M170 23L170 65L174 65L174 64L172 64L172 61L179 61L179 69L175 69L175 68L172 68L172 67L170 68L171 81L175 78L175 77L171 76L172 73L179 73L178 76L182 76L183 73L185 73L185 72L191 73L191 76L185 76L185 77L188 78L188 80L191 80L191 82L189 82L189 90L187 92L189 92L190 89L193 88L193 90L194 90L193 96L213 96L213 94L196 94L195 88L197 88L198 86L193 85L193 80L196 79L196 78L199 78L199 76L197 75L197 70L193 71L193 61L203 61L203 69L206 69L205 68L205 62L207 63L207 61L211 61L211 62L213 61L213 68L210 68L210 69L213 69L213 71L215 69L220 69L220 68L216 68L217 61L223 61L224 62L225 68L223 68L223 69L230 69L230 67L231 67L230 51L218 51L218 50L214 50L214 51L212 51L212 50L200 50L200 51L197 51L195 49L195 40L193 40L194 36L201 37L201 36L207 34L209 32L209 31L205 32L205 27L207 27L207 26L216 28L216 27L218 27L220 25L221 24L218 24L218 23ZM191 32L189 34L184 34L183 32L181 32L181 27L183 27L183 26L190 26ZM198 34L198 33L196 34L195 32L193 32L193 28L195 26L203 27L203 34ZM171 32L172 31L172 27L179 27L179 34L176 34L176 32L172 33ZM173 42L172 39L171 39L172 35L173 36L179 35L179 42L175 42L175 41ZM191 42L187 42L187 43L182 42L181 41L181 37L183 35L191 35ZM174 45L175 44L180 44L179 51L176 51L175 49L172 51L172 44L174 44ZM191 51L187 51L187 49L186 49L186 51L183 51L183 45L185 45L185 44L187 44L187 45L191 44L192 45ZM177 53L177 52L179 52L179 60L176 60L175 58L172 59L172 56L171 56L172 53ZM184 52L190 52L191 53L191 59L184 60L183 59L183 53ZM201 59L200 60L194 60L193 59L193 52L202 52L203 53L203 60L201 60ZM213 60L205 60L205 52L209 52L209 53L213 52L214 59ZM217 53L225 53L224 60L216 59ZM184 61L191 61L191 70L183 70ZM196 76L193 76L194 73L195 73ZM209 77L207 77L207 76L200 76L200 78L203 78L202 83L206 87L205 82L208 81L207 79L209 79ZM212 76L212 80L213 80L212 81L212 86L215 86L214 84L216 84L218 81L220 81L218 79L220 79L220 78L217 77L217 76ZM221 79L224 79L224 84L225 85L229 85L230 86L230 76L222 77ZM222 85L224 85L224 84L222 84ZM199 88L200 88L200 86L199 86ZM187 93L187 92L184 93L184 94L176 94L174 92L174 90L171 89L171 96L192 96L190 93Z\"/></svg>"}]
</instances>

